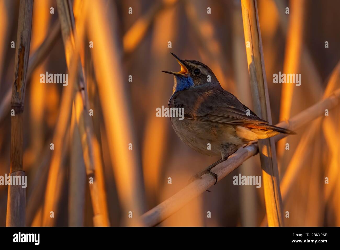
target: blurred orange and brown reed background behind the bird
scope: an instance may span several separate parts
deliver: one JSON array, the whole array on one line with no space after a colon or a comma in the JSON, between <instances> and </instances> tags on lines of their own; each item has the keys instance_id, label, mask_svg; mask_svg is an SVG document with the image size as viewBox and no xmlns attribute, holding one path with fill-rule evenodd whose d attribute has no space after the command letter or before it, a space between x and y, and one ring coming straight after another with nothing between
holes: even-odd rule
<instances>
[{"instance_id":1,"label":"blurred orange and brown reed background behind the bird","mask_svg":"<svg viewBox=\"0 0 340 250\"><path fill-rule=\"evenodd\" d=\"M133 221L129 212L137 218L185 187L192 174L218 160L187 147L176 136L170 119L155 115L156 108L167 106L172 95L173 79L161 70L179 70L169 52L208 65L222 87L252 109L241 3L74 0L71 4L76 50L93 110L97 209L104 226L129 226ZM208 7L211 14L207 14ZM340 2L258 0L257 7L276 124L340 87ZM0 0L2 176L10 172L15 68L11 41L16 41L18 11L19 1ZM43 45L48 46L47 53L35 53ZM81 122L75 111L79 97L73 96L73 105L63 102L72 87L70 77L68 86L39 81L46 71L69 71L70 54L65 50L54 0L34 0L30 62L34 56L40 60L29 65L24 103L26 225L94 226L93 197L81 146L84 131L76 126ZM301 73L301 86L273 83L273 74L279 71ZM331 110L327 119L318 118L296 131L297 136L277 144L284 211L290 213L284 218L285 226L340 226L339 113L339 108ZM50 150L51 143L54 150ZM233 176L239 173L261 175L259 155L159 226L265 226L263 185L235 186ZM8 186L1 185L0 226L6 223L7 192ZM53 220L50 211L54 211ZM207 218L208 211L211 218Z\"/></svg>"}]
</instances>

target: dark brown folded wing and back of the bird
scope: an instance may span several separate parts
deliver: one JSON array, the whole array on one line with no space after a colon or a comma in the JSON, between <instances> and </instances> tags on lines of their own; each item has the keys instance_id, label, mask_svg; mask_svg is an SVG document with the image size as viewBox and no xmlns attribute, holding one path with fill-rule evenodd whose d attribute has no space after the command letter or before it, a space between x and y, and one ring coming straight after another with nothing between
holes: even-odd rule
<instances>
[{"instance_id":1,"label":"dark brown folded wing and back of the bird","mask_svg":"<svg viewBox=\"0 0 340 250\"><path fill-rule=\"evenodd\" d=\"M184 108L184 118L228 124L267 123L233 94L219 88L193 87L175 93L170 107ZM247 115L247 110L249 110Z\"/></svg>"}]
</instances>

